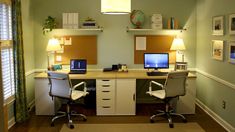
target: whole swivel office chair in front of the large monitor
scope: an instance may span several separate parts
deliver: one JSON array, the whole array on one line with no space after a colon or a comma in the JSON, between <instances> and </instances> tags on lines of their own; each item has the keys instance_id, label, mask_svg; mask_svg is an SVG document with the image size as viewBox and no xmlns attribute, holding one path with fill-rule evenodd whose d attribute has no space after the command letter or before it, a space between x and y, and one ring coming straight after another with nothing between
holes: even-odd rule
<instances>
[{"instance_id":1,"label":"whole swivel office chair in front of the large monitor","mask_svg":"<svg viewBox=\"0 0 235 132\"><path fill-rule=\"evenodd\" d=\"M174 124L172 122L171 116L180 116L183 119L183 122L187 122L187 119L181 115L173 112L173 109L170 108L170 101L173 98L179 97L179 96L184 96L185 91L186 91L186 80L188 76L189 71L174 71L174 72L169 72L166 82L164 85L151 81L149 83L149 91L147 94L150 96L154 96L156 98L159 98L164 101L165 103L165 110L158 110L158 113L150 117L150 122L154 122L154 118L157 116L166 116L168 121L169 121L169 127L173 128ZM152 90L152 84L155 84L157 86L160 86L162 89L161 90ZM171 109L171 110L170 110Z\"/></svg>"}]
</instances>

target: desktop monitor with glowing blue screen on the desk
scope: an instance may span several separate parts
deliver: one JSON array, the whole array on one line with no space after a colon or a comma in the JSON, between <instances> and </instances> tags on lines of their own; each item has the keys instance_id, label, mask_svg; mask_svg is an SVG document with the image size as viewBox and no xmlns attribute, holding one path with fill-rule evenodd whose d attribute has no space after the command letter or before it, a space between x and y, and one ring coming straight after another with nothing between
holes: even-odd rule
<instances>
[{"instance_id":1,"label":"desktop monitor with glowing blue screen on the desk","mask_svg":"<svg viewBox=\"0 0 235 132\"><path fill-rule=\"evenodd\" d=\"M169 68L168 53L144 53L145 69L164 69Z\"/></svg>"}]
</instances>

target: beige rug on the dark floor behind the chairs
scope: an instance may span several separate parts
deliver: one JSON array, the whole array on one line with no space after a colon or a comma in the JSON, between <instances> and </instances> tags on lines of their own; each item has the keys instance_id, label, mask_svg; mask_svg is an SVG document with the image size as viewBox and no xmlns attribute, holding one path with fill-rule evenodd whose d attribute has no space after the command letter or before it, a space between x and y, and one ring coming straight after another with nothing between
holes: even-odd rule
<instances>
[{"instance_id":1,"label":"beige rug on the dark floor behind the chairs","mask_svg":"<svg viewBox=\"0 0 235 132\"><path fill-rule=\"evenodd\" d=\"M130 123L130 124L75 124L74 129L64 124L60 132L205 132L197 123Z\"/></svg>"}]
</instances>

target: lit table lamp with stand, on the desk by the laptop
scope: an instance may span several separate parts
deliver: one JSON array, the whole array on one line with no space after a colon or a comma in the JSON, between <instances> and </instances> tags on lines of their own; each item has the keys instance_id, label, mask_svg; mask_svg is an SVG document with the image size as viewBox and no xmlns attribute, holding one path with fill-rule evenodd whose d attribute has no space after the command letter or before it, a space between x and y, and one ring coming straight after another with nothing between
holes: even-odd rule
<instances>
[{"instance_id":1,"label":"lit table lamp with stand, on the desk by the laptop","mask_svg":"<svg viewBox=\"0 0 235 132\"><path fill-rule=\"evenodd\" d=\"M47 64L48 64L48 70L50 70L50 54L55 53L56 51L61 50L60 42L56 38L51 38L48 41L47 44Z\"/></svg>"}]
</instances>

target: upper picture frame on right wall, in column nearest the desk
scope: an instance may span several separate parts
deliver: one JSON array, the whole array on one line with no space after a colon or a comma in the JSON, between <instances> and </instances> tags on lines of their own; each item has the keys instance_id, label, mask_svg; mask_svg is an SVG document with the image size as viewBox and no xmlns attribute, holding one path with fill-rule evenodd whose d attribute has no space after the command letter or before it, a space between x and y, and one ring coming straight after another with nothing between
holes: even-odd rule
<instances>
[{"instance_id":1,"label":"upper picture frame on right wall, in column nearest the desk","mask_svg":"<svg viewBox=\"0 0 235 132\"><path fill-rule=\"evenodd\" d=\"M212 18L212 35L224 35L224 16Z\"/></svg>"}]
</instances>

